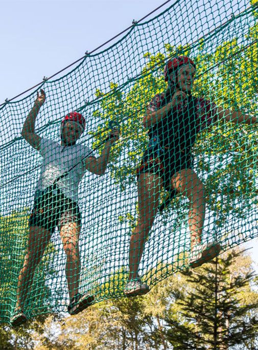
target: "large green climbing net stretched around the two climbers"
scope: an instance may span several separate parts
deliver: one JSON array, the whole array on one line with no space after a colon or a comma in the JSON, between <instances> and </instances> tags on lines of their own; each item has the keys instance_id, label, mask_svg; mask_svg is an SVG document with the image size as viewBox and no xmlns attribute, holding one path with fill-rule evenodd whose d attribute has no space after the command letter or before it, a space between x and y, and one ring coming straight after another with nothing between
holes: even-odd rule
<instances>
[{"instance_id":1,"label":"large green climbing net stretched around the two climbers","mask_svg":"<svg viewBox=\"0 0 258 350\"><path fill-rule=\"evenodd\" d=\"M257 4L257 3L256 3ZM68 74L46 80L46 101L36 133L60 141L60 121L81 113L86 128L80 143L99 157L110 120L121 137L101 177L86 171L79 186L82 227L80 292L95 302L121 297L128 279L129 242L138 217L136 169L148 148L143 126L146 106L166 90L163 68L178 55L196 63L193 95L224 109L257 116L258 8L255 1L180 0L145 23L135 23L102 52L87 54ZM16 304L20 269L27 252L28 220L42 158L21 136L36 98L7 102L1 116L0 316L7 322ZM203 242L223 249L257 236L257 124L212 122L198 133L193 169L205 185ZM54 180L54 179L53 179ZM160 201L166 191L160 188ZM189 266L189 200L181 194L158 211L145 244L138 273L154 286ZM66 311L69 295L66 255L56 229L35 270L26 299L28 317Z\"/></svg>"}]
</instances>

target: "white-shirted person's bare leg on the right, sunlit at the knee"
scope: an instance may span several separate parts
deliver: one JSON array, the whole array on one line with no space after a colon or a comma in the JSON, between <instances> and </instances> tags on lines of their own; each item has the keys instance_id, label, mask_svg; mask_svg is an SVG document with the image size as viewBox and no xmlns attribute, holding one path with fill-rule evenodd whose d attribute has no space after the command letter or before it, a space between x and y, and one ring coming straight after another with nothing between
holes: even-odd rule
<instances>
[{"instance_id":1,"label":"white-shirted person's bare leg on the right, sunlit at the knee","mask_svg":"<svg viewBox=\"0 0 258 350\"><path fill-rule=\"evenodd\" d=\"M80 280L80 252L79 252L80 226L74 223L67 223L60 229L63 247L66 253L66 279L70 300L78 293Z\"/></svg>"}]
</instances>

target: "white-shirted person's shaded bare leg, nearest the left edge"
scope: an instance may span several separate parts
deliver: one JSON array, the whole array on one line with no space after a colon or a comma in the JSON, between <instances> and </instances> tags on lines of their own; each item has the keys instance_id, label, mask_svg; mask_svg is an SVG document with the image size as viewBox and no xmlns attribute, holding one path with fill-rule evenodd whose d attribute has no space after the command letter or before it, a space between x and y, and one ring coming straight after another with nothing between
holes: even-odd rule
<instances>
[{"instance_id":1,"label":"white-shirted person's shaded bare leg, nearest the left edge","mask_svg":"<svg viewBox=\"0 0 258 350\"><path fill-rule=\"evenodd\" d=\"M18 277L17 308L24 308L28 291L33 282L35 269L44 254L50 238L50 231L37 226L30 227L28 248L24 259L24 266L20 270Z\"/></svg>"}]
</instances>

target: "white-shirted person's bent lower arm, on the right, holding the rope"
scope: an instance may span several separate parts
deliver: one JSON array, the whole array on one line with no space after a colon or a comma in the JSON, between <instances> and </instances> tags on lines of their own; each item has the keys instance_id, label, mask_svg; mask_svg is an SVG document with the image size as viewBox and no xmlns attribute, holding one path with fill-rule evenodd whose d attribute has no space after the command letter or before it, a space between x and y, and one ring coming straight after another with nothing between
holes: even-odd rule
<instances>
[{"instance_id":1,"label":"white-shirted person's bent lower arm, on the right, holding the rope","mask_svg":"<svg viewBox=\"0 0 258 350\"><path fill-rule=\"evenodd\" d=\"M110 156L110 149L112 144L119 139L119 130L114 129L112 131L112 138L110 138L103 148L101 155L98 159L93 157L88 157L83 161L84 168L93 174L97 175L103 175L106 171L109 156Z\"/></svg>"}]
</instances>

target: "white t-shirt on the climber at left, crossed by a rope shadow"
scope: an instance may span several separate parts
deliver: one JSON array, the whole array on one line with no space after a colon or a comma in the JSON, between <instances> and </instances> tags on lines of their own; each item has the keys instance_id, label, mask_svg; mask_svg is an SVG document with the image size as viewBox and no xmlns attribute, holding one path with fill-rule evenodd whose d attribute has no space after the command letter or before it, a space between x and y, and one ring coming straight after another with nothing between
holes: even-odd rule
<instances>
[{"instance_id":1,"label":"white t-shirt on the climber at left, crossed by a rope shadow","mask_svg":"<svg viewBox=\"0 0 258 350\"><path fill-rule=\"evenodd\" d=\"M76 165L66 176L57 182L58 187L68 198L78 201L78 186L85 173L82 160L93 152L87 146L75 144L61 146L58 142L41 139L40 154L43 157L36 191L44 190L64 172Z\"/></svg>"}]
</instances>

